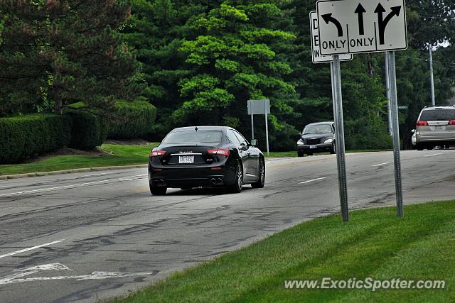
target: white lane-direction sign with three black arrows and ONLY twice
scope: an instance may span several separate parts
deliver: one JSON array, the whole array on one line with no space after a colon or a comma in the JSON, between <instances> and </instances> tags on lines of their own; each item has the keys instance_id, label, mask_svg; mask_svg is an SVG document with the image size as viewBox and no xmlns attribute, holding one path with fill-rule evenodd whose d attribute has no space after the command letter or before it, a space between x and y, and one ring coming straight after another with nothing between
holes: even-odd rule
<instances>
[{"instance_id":1,"label":"white lane-direction sign with three black arrows and ONLY twice","mask_svg":"<svg viewBox=\"0 0 455 303\"><path fill-rule=\"evenodd\" d=\"M321 0L316 7L321 55L407 48L404 0Z\"/></svg>"}]
</instances>

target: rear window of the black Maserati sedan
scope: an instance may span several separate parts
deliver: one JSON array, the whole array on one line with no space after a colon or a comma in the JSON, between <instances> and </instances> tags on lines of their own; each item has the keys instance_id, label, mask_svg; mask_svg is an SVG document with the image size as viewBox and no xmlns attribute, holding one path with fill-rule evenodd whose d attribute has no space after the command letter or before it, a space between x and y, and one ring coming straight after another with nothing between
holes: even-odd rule
<instances>
[{"instance_id":1,"label":"rear window of the black Maserati sedan","mask_svg":"<svg viewBox=\"0 0 455 303\"><path fill-rule=\"evenodd\" d=\"M220 131L176 131L164 138L164 144L208 144L221 143Z\"/></svg>"}]
</instances>

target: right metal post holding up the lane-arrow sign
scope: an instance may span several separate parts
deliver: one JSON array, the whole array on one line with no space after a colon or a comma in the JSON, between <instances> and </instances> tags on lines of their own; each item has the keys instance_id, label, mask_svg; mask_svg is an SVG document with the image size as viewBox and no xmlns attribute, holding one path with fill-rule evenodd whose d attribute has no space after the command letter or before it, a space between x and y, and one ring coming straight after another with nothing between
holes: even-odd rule
<instances>
[{"instance_id":1,"label":"right metal post holding up the lane-arrow sign","mask_svg":"<svg viewBox=\"0 0 455 303\"><path fill-rule=\"evenodd\" d=\"M397 75L395 72L395 52L389 52L390 104L392 111L393 158L395 163L395 190L397 192L397 215L404 216L403 190L400 161L400 125L398 123Z\"/></svg>"}]
</instances>

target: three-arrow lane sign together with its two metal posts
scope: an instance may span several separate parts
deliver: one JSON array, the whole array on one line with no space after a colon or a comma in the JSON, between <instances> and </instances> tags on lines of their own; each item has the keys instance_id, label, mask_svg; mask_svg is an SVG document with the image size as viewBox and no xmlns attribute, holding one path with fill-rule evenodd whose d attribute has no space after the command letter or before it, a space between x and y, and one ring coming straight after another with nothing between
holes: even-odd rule
<instances>
[{"instance_id":1,"label":"three-arrow lane sign together with its two metal posts","mask_svg":"<svg viewBox=\"0 0 455 303\"><path fill-rule=\"evenodd\" d=\"M319 0L316 3L321 55L333 55L333 90L335 92L336 149L343 220L348 220L346 163L344 159L343 105L341 104L340 60L346 53L388 52L390 112L395 161L397 214L404 216L400 164L395 52L407 48L406 9L404 0Z\"/></svg>"}]
</instances>

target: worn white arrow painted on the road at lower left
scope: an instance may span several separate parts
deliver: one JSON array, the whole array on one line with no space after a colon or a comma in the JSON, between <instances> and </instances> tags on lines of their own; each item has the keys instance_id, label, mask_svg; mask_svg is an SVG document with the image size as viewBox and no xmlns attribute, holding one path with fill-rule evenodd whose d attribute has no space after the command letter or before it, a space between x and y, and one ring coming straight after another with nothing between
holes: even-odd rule
<instances>
[{"instance_id":1,"label":"worn white arrow painted on the road at lower left","mask_svg":"<svg viewBox=\"0 0 455 303\"><path fill-rule=\"evenodd\" d=\"M68 266L60 263L51 263L39 266L33 266L31 268L25 268L21 270L14 270L13 275L7 275L6 277L0 277L0 285L12 284L18 282L32 282L32 281L48 281L48 280L65 280L74 279L77 281L85 280L102 280L114 277L134 277L139 275L155 275L156 272L92 272L90 275L74 275L74 276L55 276L55 277L29 277L24 278L28 275L36 274L37 272L53 270L63 271L71 270Z\"/></svg>"}]
</instances>

